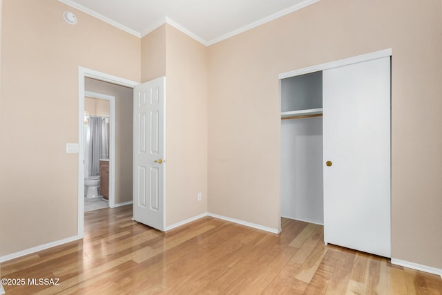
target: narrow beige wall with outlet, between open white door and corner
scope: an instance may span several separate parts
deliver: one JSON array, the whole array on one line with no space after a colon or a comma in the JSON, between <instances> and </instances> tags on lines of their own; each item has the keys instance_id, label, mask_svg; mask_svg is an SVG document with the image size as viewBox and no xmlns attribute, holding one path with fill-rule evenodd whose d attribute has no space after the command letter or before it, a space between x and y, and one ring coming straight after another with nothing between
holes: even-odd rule
<instances>
[{"instance_id":1,"label":"narrow beige wall with outlet, between open white door and corner","mask_svg":"<svg viewBox=\"0 0 442 295\"><path fill-rule=\"evenodd\" d=\"M166 225L207 211L207 72L207 48L166 25Z\"/></svg>"}]
</instances>

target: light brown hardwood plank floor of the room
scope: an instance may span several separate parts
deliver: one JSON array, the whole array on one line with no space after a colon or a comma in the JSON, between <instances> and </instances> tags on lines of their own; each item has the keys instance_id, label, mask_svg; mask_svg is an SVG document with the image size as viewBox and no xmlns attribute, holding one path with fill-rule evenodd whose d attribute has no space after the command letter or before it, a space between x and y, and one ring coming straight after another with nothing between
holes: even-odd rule
<instances>
[{"instance_id":1,"label":"light brown hardwood plank floor of the room","mask_svg":"<svg viewBox=\"0 0 442 295\"><path fill-rule=\"evenodd\" d=\"M84 240L2 263L3 278L26 279L6 294L442 294L440 276L325 246L306 222L283 218L276 235L206 217L164 234L131 217L131 205L88 212Z\"/></svg>"}]
</instances>

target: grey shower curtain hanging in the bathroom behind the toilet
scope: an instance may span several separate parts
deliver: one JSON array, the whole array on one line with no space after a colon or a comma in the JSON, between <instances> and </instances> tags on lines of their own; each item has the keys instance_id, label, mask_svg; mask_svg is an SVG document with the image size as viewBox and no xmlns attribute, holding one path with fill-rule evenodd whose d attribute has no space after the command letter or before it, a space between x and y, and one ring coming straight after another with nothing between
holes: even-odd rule
<instances>
[{"instance_id":1,"label":"grey shower curtain hanging in the bathroom behind the toilet","mask_svg":"<svg viewBox=\"0 0 442 295\"><path fill-rule=\"evenodd\" d=\"M108 129L106 118L89 116L84 159L85 175L99 175L99 159L108 158Z\"/></svg>"}]
</instances>

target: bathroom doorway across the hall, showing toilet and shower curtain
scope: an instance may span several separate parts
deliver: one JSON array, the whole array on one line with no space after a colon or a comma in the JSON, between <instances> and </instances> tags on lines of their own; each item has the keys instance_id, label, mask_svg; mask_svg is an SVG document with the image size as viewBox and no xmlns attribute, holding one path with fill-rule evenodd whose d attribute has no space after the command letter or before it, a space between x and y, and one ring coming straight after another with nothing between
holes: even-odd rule
<instances>
[{"instance_id":1,"label":"bathroom doorway across the hall, showing toilet and shower curtain","mask_svg":"<svg viewBox=\"0 0 442 295\"><path fill-rule=\"evenodd\" d=\"M84 93L84 212L115 206L115 96ZM112 159L112 160L111 160Z\"/></svg>"}]
</instances>

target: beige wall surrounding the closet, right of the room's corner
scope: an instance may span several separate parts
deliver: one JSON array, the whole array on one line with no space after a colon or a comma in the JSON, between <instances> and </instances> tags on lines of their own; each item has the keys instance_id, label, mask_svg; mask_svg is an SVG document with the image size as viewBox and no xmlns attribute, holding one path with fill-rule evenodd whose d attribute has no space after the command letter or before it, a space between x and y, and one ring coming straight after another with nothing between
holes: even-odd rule
<instances>
[{"instance_id":1,"label":"beige wall surrounding the closet, right of the room's corner","mask_svg":"<svg viewBox=\"0 0 442 295\"><path fill-rule=\"evenodd\" d=\"M278 228L278 73L392 48L392 256L442 268L441 12L321 0L211 46L209 211Z\"/></svg>"}]
</instances>

